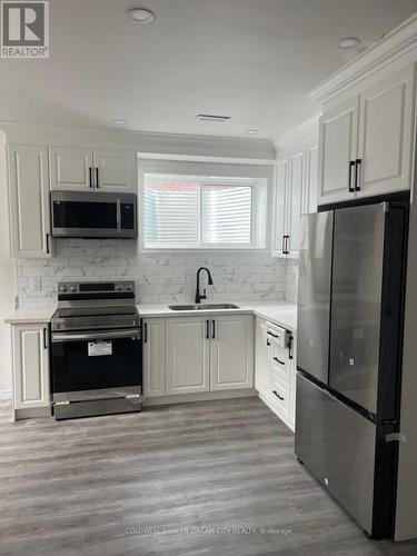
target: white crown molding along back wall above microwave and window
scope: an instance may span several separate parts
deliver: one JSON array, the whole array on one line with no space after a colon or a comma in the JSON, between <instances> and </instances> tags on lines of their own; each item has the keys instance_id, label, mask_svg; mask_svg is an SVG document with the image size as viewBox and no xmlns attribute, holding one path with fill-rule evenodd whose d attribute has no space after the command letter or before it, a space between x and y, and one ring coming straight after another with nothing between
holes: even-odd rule
<instances>
[{"instance_id":1,"label":"white crown molding along back wall above microwave and window","mask_svg":"<svg viewBox=\"0 0 417 556\"><path fill-rule=\"evenodd\" d=\"M274 160L276 150L268 139L240 137L153 133L150 131L80 128L0 121L7 142L36 145L118 145L138 152Z\"/></svg>"}]
</instances>

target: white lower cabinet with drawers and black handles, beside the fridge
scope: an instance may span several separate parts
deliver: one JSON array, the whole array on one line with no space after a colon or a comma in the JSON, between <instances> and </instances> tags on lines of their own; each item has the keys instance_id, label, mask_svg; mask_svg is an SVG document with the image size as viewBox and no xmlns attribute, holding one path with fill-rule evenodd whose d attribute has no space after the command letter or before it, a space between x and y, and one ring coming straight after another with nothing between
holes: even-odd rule
<instances>
[{"instance_id":1,"label":"white lower cabinet with drawers and black handles, beside the fridge","mask_svg":"<svg viewBox=\"0 0 417 556\"><path fill-rule=\"evenodd\" d=\"M256 320L255 387L260 398L291 429L295 429L296 361L292 335L285 347L278 341L281 328Z\"/></svg>"}]
</instances>

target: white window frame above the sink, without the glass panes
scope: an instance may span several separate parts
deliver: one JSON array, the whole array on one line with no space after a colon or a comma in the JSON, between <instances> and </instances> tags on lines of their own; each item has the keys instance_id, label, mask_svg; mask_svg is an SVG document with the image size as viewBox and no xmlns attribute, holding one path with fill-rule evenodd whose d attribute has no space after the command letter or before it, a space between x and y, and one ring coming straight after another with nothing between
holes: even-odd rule
<instances>
[{"instance_id":1,"label":"white window frame above the sink, without the glass panes","mask_svg":"<svg viewBox=\"0 0 417 556\"><path fill-rule=\"evenodd\" d=\"M239 245L239 244L222 244L212 246L210 244L200 244L193 246L161 246L157 247L152 245L147 247L145 245L145 176L147 173L160 173L160 175L178 175L178 176L202 176L202 177L215 177L214 182L221 182L221 178L242 178L248 181L248 185L252 188L257 187L257 180L266 180L266 229L265 229L265 246L257 247L254 244L255 231L256 231L256 218L258 196L254 193L252 190L252 205L251 205L251 239L250 245ZM209 181L201 180L200 186L209 185ZM227 183L226 183L227 185ZM231 185L231 183L230 183ZM272 218L272 186L274 186L274 166L265 163L225 163L225 162L198 162L198 161L183 161L183 160L170 160L170 159L146 159L138 158L138 201L139 210L138 214L138 228L139 228L139 249L141 252L146 254L250 254L257 252L269 254L270 251L270 222ZM201 188L199 195L199 203L201 202ZM200 210L201 214L201 210ZM199 216L199 237L201 234L201 221L202 218Z\"/></svg>"}]
</instances>

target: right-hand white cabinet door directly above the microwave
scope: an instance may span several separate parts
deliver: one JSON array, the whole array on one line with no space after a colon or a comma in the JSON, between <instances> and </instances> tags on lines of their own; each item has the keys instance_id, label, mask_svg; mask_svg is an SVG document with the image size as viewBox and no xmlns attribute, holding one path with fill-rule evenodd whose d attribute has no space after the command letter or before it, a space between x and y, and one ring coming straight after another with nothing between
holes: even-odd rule
<instances>
[{"instance_id":1,"label":"right-hand white cabinet door directly above the microwave","mask_svg":"<svg viewBox=\"0 0 417 556\"><path fill-rule=\"evenodd\" d=\"M132 151L95 149L96 189L136 191L136 156Z\"/></svg>"}]
</instances>

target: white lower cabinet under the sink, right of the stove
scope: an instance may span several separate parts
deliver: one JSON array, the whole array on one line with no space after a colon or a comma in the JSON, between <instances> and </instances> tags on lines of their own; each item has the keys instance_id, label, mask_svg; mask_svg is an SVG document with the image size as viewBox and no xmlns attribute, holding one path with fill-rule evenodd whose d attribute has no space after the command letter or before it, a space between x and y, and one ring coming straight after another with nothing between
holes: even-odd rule
<instances>
[{"instance_id":1,"label":"white lower cabinet under the sink, right of the stove","mask_svg":"<svg viewBox=\"0 0 417 556\"><path fill-rule=\"evenodd\" d=\"M254 387L254 317L143 320L145 398Z\"/></svg>"}]
</instances>

